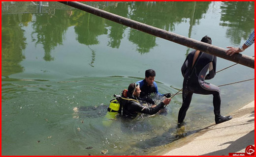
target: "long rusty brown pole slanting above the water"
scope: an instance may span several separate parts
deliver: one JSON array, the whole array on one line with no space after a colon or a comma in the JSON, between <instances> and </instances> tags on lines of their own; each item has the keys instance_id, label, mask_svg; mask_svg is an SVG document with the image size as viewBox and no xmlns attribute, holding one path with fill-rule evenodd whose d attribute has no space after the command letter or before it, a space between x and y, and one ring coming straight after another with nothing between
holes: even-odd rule
<instances>
[{"instance_id":1,"label":"long rusty brown pole slanting above the water","mask_svg":"<svg viewBox=\"0 0 256 157\"><path fill-rule=\"evenodd\" d=\"M210 45L198 40L194 40L179 34L175 34L172 32L168 32L166 30L154 27L154 26L149 26L146 24L142 24L139 22L136 22L134 20L130 20L128 18L124 18L122 16L119 15L115 15L112 13L109 13L107 11L104 10L100 10L97 9L95 7L80 3L80 2L76 2L76 1L60 1L63 4L72 6L74 8L89 12L91 14L97 15L99 17L105 18L107 20L119 23L121 25L125 25L140 31L143 31L145 33L149 33L152 35L155 35L157 37L190 47L192 49L195 50L199 50L202 52L206 52L233 62L236 62L238 64L242 64L244 66L250 67L250 68L254 68L254 58L250 57L248 55L244 55L241 53L235 53L232 56L226 55L226 49L214 46L214 45Z\"/></svg>"}]
</instances>

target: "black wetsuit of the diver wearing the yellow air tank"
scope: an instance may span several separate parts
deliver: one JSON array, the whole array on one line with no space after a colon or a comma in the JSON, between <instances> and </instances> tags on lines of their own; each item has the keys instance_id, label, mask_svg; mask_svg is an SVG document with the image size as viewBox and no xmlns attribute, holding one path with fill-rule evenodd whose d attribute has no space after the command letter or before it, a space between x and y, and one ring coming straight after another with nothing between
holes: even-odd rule
<instances>
[{"instance_id":1,"label":"black wetsuit of the diver wearing the yellow air tank","mask_svg":"<svg viewBox=\"0 0 256 157\"><path fill-rule=\"evenodd\" d=\"M134 96L131 96L129 98L137 100ZM123 107L123 116L126 116L126 117L136 117L139 112L151 114L151 115L156 114L164 106L164 103L161 102L156 107L151 108L151 107L143 106L143 105L137 103L136 101L123 100L123 99L120 102L120 104Z\"/></svg>"}]
</instances>

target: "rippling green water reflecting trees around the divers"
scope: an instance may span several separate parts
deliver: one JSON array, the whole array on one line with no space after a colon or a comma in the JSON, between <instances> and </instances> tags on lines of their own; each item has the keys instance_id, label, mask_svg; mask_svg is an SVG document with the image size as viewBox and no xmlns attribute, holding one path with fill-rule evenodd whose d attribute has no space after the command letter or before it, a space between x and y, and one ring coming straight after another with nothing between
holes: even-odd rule
<instances>
[{"instance_id":1,"label":"rippling green water reflecting trees around the divers","mask_svg":"<svg viewBox=\"0 0 256 157\"><path fill-rule=\"evenodd\" d=\"M254 30L250 2L84 2L225 48ZM122 26L59 2L1 2L2 155L154 155L214 124L212 96L193 95L186 125L177 129L182 96L168 114L109 120L113 94L154 69L160 93L182 88L181 66L192 49ZM255 45L245 52L254 56ZM218 57L217 71L234 64ZM236 65L215 85L254 78ZM222 113L254 100L254 80L221 87Z\"/></svg>"}]
</instances>

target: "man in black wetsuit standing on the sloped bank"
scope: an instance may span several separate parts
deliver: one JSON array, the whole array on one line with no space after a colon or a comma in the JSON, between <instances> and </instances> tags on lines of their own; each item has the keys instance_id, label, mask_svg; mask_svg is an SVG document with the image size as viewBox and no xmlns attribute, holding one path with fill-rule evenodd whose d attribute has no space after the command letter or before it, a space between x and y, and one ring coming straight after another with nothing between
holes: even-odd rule
<instances>
[{"instance_id":1,"label":"man in black wetsuit standing on the sloped bank","mask_svg":"<svg viewBox=\"0 0 256 157\"><path fill-rule=\"evenodd\" d=\"M208 36L204 36L201 42L212 44L212 40ZM184 77L182 92L183 102L178 115L178 123L182 123L184 121L193 93L213 95L216 124L232 119L231 116L225 117L221 115L220 88L204 81L205 79L214 78L216 74L216 61L216 56L200 52L198 50L194 50L188 54L181 68L181 72ZM208 69L209 74L206 75Z\"/></svg>"}]
</instances>

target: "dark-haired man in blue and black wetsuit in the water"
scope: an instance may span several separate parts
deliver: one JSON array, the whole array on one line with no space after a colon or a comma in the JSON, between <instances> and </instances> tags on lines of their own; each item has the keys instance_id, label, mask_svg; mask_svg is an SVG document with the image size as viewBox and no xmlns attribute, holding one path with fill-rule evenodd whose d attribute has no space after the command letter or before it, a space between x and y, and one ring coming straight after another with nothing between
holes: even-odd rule
<instances>
[{"instance_id":1,"label":"dark-haired man in blue and black wetsuit in the water","mask_svg":"<svg viewBox=\"0 0 256 157\"><path fill-rule=\"evenodd\" d=\"M145 79L142 79L136 82L136 83L139 83L140 85L140 90L141 90L141 93L139 96L140 100L146 101L150 104L155 104L155 102L153 100L150 100L148 97L151 93L155 93L160 96L165 96L166 98L171 97L170 93L161 94L158 91L158 85L155 82L155 77L156 77L156 72L153 69L148 69L145 71Z\"/></svg>"}]
</instances>

